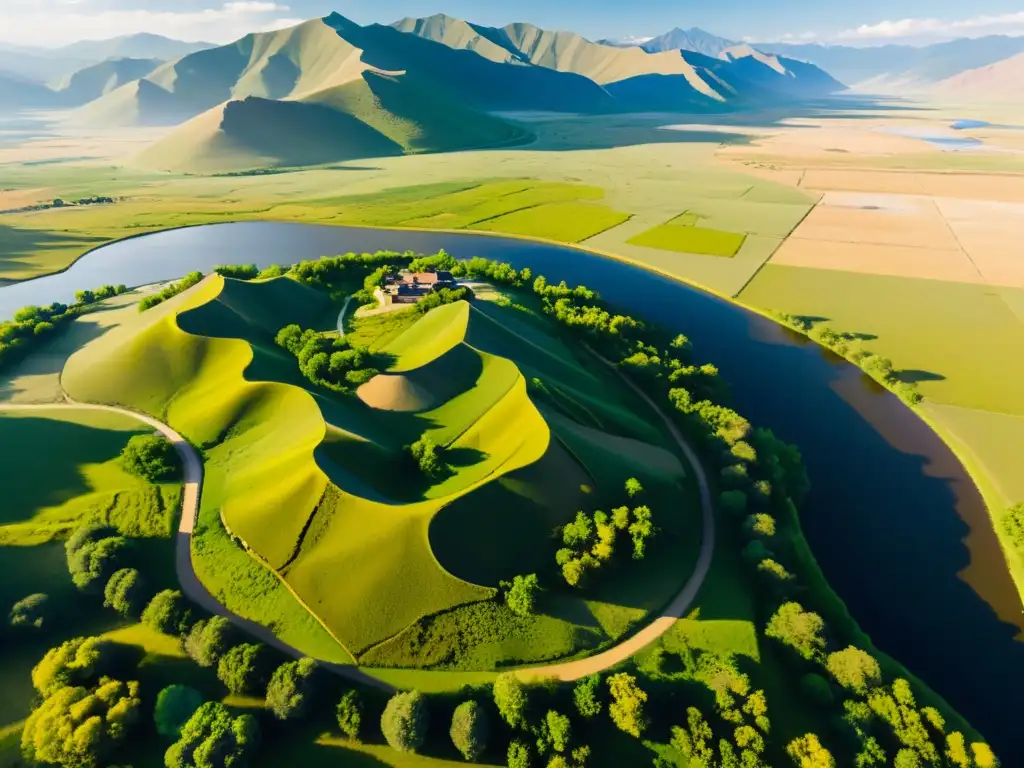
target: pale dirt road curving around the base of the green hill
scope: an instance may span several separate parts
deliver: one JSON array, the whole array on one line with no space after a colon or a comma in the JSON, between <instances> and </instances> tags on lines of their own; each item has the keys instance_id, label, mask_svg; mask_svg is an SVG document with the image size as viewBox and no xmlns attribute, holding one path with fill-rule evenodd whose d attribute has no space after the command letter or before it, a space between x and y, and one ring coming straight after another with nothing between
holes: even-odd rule
<instances>
[{"instance_id":1,"label":"pale dirt road curving around the base of the green hill","mask_svg":"<svg viewBox=\"0 0 1024 768\"><path fill-rule=\"evenodd\" d=\"M341 330L342 318L347 308L348 303L346 302L338 316L339 330ZM669 419L665 413L663 413L662 409L658 408L658 406L647 395L646 392L631 381L629 377L624 375L614 364L606 360L593 350L591 350L591 352L604 365L613 369L615 373L622 377L623 381L625 381L626 384L634 392L636 392L639 397L650 406L654 413L660 416L666 427L669 429L669 432L672 434L680 450L683 452L687 463L690 465L690 468L697 479L697 485L700 492L700 553L697 557L697 562L693 568L693 572L686 581L682 591L676 595L673 601L668 605L668 607L665 608L665 610L662 611L657 618L644 627L638 633L624 640L618 645L615 645L614 647L594 656L588 656L587 658L582 658L577 662L546 665L543 667L529 667L518 670L517 674L523 678L577 680L581 677L586 677L587 675L592 675L614 667L616 664L626 660L631 655L659 638L672 628L678 618L682 617L689 610L690 605L703 584L705 578L708 575L708 570L711 567L712 555L715 550L715 518L711 501L711 489L708 484L708 477L705 474L703 467L700 465L700 461L696 453L683 437L682 432L675 425L675 423ZM118 408L116 406L99 406L95 403L76 402L68 397L67 394L65 395L65 398L66 399L62 402L52 403L0 403L0 411L52 411L55 409L106 411L109 413L120 414L122 416L135 419L136 421L140 421L161 432L178 452L178 456L181 457L181 465L184 471L184 490L181 500L181 520L178 524L175 542L175 567L178 583L181 585L181 592L189 600L200 605L204 610L213 615L219 615L227 618L229 622L242 628L246 633L252 635L261 642L278 648L292 657L302 657L304 654L301 651L280 640L268 628L260 624L256 624L248 618L243 618L224 607L217 600L217 598L210 594L203 583L199 580L199 577L196 575L196 570L194 569L191 562L191 536L193 530L196 527L196 522L199 519L199 505L203 488L203 461L200 458L199 452L196 451L191 443L178 434L178 432L171 429L168 425L154 419L151 416L146 416L145 414ZM359 668L352 665L332 664L327 662L321 662L321 664L332 672L342 675L343 677L346 677L354 682L371 685L388 691L393 690L391 685L362 672Z\"/></svg>"}]
</instances>

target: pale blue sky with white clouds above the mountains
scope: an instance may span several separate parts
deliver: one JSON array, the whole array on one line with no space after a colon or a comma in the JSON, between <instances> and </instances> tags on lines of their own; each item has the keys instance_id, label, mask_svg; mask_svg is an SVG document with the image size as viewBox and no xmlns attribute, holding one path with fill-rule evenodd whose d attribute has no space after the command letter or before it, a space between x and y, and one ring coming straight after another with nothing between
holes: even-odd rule
<instances>
[{"instance_id":1,"label":"pale blue sky with white clouds above the mountains","mask_svg":"<svg viewBox=\"0 0 1024 768\"><path fill-rule=\"evenodd\" d=\"M436 12L486 25L524 20L595 39L694 26L735 39L853 45L1024 35L1021 0L0 0L0 40L59 45L155 32L227 42L332 10L362 24Z\"/></svg>"}]
</instances>

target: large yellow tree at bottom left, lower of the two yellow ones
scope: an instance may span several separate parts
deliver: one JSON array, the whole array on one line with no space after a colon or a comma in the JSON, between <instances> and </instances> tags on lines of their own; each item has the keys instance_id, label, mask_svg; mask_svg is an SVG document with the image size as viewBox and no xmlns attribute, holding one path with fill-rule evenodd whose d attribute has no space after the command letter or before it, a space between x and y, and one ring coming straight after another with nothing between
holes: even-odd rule
<instances>
[{"instance_id":1,"label":"large yellow tree at bottom left, lower of the two yellow ones","mask_svg":"<svg viewBox=\"0 0 1024 768\"><path fill-rule=\"evenodd\" d=\"M98 768L138 722L138 683L104 678L98 687L51 691L29 715L22 753L33 763Z\"/></svg>"}]
</instances>

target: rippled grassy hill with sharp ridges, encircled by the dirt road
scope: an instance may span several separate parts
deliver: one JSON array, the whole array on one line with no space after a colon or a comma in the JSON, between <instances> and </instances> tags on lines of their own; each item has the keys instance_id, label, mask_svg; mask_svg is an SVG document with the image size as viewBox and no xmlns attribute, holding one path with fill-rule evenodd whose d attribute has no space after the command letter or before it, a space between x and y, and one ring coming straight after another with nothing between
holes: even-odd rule
<instances>
[{"instance_id":1,"label":"rippled grassy hill with sharp ridges, encircled by the dirt road","mask_svg":"<svg viewBox=\"0 0 1024 768\"><path fill-rule=\"evenodd\" d=\"M441 626L462 637L479 611L501 620L473 644L487 650L450 649L444 664L557 657L621 635L668 601L685 569L658 557L643 564L640 596L625 602L617 593L559 596L523 625L492 599L500 580L553 567L551 529L629 476L665 503L667 530L695 519L670 441L614 374L532 312L457 302L367 318L361 339L391 331L375 347L387 370L341 395L304 379L273 343L286 325L333 328L336 311L289 278L215 275L74 355L63 383L78 399L144 411L203 445L201 542L204 526L222 521L315 615L310 632L326 629L356 658L442 663L411 638ZM397 335L396 321L406 328ZM537 381L547 396L534 392ZM427 481L408 463L404 446L423 436L444 446L446 477ZM195 546L203 577L207 545ZM228 604L232 591L252 589L215 587ZM251 600L247 610L285 621Z\"/></svg>"}]
</instances>

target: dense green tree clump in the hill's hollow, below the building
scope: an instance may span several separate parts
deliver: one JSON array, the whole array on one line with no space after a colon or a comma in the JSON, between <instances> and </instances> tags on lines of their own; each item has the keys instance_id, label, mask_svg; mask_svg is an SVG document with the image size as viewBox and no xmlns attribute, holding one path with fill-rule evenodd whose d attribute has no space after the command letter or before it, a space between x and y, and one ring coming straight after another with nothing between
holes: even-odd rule
<instances>
[{"instance_id":1,"label":"dense green tree clump in the hill's hollow, below the building","mask_svg":"<svg viewBox=\"0 0 1024 768\"><path fill-rule=\"evenodd\" d=\"M291 325L281 329L274 341L295 355L303 376L335 392L353 391L380 373L370 350L352 347L344 338L330 339Z\"/></svg>"}]
</instances>

